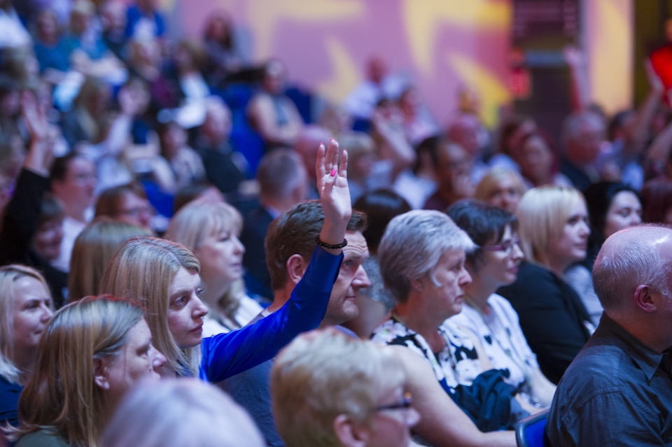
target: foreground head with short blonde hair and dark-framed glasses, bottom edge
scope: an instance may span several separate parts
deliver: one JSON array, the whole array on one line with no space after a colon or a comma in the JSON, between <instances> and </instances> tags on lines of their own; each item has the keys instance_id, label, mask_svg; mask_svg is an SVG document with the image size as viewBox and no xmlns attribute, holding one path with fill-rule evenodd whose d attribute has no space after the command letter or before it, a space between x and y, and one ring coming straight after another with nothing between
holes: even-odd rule
<instances>
[{"instance_id":1,"label":"foreground head with short blonde hair and dark-framed glasses, bottom edge","mask_svg":"<svg viewBox=\"0 0 672 447\"><path fill-rule=\"evenodd\" d=\"M284 348L270 381L287 446L407 446L419 414L387 349L335 329L302 334Z\"/></svg>"}]
</instances>

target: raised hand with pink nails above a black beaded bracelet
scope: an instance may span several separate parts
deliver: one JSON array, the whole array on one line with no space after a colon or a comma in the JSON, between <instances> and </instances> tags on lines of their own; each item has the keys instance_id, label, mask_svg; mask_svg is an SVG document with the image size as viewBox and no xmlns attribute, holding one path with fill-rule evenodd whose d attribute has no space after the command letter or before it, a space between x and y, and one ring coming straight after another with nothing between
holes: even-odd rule
<instances>
[{"instance_id":1,"label":"raised hand with pink nails above a black beaded bracelet","mask_svg":"<svg viewBox=\"0 0 672 447\"><path fill-rule=\"evenodd\" d=\"M341 152L341 160L338 155ZM317 190L320 193L324 224L320 233L321 241L330 244L342 243L345 230L352 215L350 189L348 187L348 152L340 151L335 139L325 149L321 144L317 150L315 171ZM339 252L339 250L336 250Z\"/></svg>"}]
</instances>

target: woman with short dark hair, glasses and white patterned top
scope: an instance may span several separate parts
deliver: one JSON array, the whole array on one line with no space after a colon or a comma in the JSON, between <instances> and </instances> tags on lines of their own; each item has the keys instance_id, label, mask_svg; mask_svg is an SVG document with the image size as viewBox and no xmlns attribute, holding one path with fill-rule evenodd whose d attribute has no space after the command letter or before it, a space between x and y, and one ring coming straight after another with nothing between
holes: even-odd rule
<instances>
[{"instance_id":1,"label":"woman with short dark hair, glasses and white patterned top","mask_svg":"<svg viewBox=\"0 0 672 447\"><path fill-rule=\"evenodd\" d=\"M448 216L479 246L467 254L466 269L472 283L466 287L462 311L446 324L463 329L479 349L484 369L507 369L507 383L521 390L524 402L542 407L551 404L555 385L542 374L537 357L527 344L518 314L495 291L516 281L523 252L518 243L518 221L511 213L482 201L460 201ZM481 355L484 354L484 355ZM472 379L461 377L470 385Z\"/></svg>"}]
</instances>

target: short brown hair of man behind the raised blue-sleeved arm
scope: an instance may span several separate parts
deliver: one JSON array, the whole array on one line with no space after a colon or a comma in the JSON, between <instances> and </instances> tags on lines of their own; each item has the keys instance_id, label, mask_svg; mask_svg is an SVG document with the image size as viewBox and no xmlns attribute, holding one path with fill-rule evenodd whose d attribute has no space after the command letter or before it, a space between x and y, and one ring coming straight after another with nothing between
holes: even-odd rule
<instances>
[{"instance_id":1,"label":"short brown hair of man behind the raised blue-sleeved arm","mask_svg":"<svg viewBox=\"0 0 672 447\"><path fill-rule=\"evenodd\" d=\"M273 290L280 290L287 283L286 264L292 255L310 259L316 246L315 236L320 234L323 222L322 204L318 200L301 202L271 222L265 246ZM353 210L347 230L363 232L365 229L366 215Z\"/></svg>"}]
</instances>

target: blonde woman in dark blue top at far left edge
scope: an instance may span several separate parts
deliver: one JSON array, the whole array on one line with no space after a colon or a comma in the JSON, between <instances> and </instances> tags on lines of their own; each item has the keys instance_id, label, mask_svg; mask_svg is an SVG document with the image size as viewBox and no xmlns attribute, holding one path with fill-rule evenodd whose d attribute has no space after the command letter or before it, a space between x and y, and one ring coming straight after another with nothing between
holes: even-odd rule
<instances>
[{"instance_id":1,"label":"blonde woman in dark blue top at far left edge","mask_svg":"<svg viewBox=\"0 0 672 447\"><path fill-rule=\"evenodd\" d=\"M17 404L34 369L37 343L53 313L48 285L35 269L0 267L0 423L18 425Z\"/></svg>"}]
</instances>

